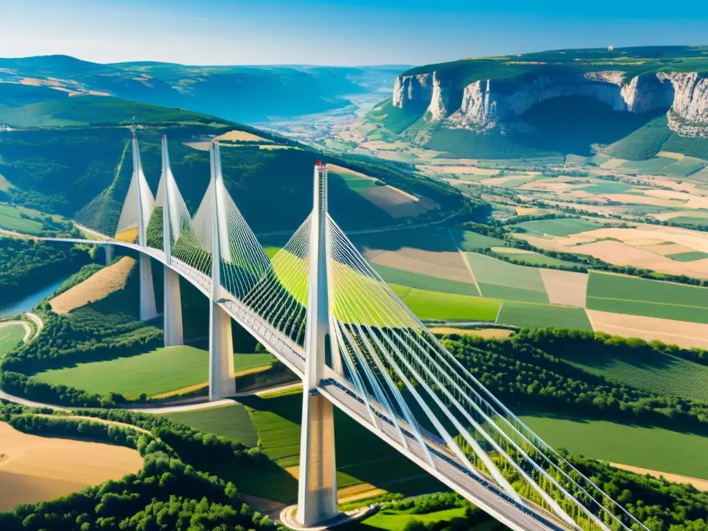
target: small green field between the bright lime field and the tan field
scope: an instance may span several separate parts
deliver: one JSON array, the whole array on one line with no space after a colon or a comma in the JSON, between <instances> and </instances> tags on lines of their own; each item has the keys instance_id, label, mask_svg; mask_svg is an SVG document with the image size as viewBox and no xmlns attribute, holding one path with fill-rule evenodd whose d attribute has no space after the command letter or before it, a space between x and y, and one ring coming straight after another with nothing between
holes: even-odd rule
<instances>
[{"instance_id":1,"label":"small green field between the bright lime field and the tan field","mask_svg":"<svg viewBox=\"0 0 708 531\"><path fill-rule=\"evenodd\" d=\"M593 330L583 308L513 300L503 301L496 322L532 328L554 326L556 328Z\"/></svg>"}]
</instances>

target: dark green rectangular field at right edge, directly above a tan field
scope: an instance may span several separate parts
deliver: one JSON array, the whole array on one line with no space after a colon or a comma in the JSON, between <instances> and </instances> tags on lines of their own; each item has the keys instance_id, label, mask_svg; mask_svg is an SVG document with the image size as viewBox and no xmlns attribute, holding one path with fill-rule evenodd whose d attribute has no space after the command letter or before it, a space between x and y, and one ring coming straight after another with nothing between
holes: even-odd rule
<instances>
[{"instance_id":1,"label":"dark green rectangular field at right edge, directly above a tan field","mask_svg":"<svg viewBox=\"0 0 708 531\"><path fill-rule=\"evenodd\" d=\"M591 272L588 309L708 323L708 288Z\"/></svg>"}]
</instances>

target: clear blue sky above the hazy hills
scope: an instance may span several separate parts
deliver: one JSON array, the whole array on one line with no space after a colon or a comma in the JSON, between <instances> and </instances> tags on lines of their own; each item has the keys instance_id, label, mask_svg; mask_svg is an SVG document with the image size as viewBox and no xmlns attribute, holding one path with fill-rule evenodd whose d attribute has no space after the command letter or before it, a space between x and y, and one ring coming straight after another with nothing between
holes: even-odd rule
<instances>
[{"instance_id":1,"label":"clear blue sky above the hazy hills","mask_svg":"<svg viewBox=\"0 0 708 531\"><path fill-rule=\"evenodd\" d=\"M708 1L0 0L1 57L428 64L568 47L708 45Z\"/></svg>"}]
</instances>

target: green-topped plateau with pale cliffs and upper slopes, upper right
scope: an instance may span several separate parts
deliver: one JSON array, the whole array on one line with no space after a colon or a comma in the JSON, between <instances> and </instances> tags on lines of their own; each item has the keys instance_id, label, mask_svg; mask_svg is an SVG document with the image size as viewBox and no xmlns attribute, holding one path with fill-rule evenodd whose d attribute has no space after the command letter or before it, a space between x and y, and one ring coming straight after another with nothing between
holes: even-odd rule
<instances>
[{"instance_id":1,"label":"green-topped plateau with pale cliffs and upper slopes, upper right","mask_svg":"<svg viewBox=\"0 0 708 531\"><path fill-rule=\"evenodd\" d=\"M554 50L415 67L396 77L392 98L370 118L414 144L454 150L453 139L471 134L523 143L540 134L539 118L596 104L600 113L615 111L608 127L632 122L620 127L626 134L665 113L671 132L708 139L708 46ZM541 105L544 116L534 113Z\"/></svg>"}]
</instances>

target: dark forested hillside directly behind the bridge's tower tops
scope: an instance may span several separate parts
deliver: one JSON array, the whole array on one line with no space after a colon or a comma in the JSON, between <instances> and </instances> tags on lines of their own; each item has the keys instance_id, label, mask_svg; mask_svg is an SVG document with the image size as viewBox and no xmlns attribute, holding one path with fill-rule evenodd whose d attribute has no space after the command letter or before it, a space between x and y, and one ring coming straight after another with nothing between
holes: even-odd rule
<instances>
[{"instance_id":1,"label":"dark forested hillside directly behind the bridge's tower tops","mask_svg":"<svg viewBox=\"0 0 708 531\"><path fill-rule=\"evenodd\" d=\"M226 141L222 148L227 188L256 232L292 230L304 221L312 208L312 167L318 159L364 171L382 183L437 202L440 209L429 212L429 219L450 215L469 203L450 185L414 176L409 166L361 156L326 156L205 115L89 96L72 98L71 105L57 101L37 105L42 119L49 123L65 120L65 125L73 125L0 134L0 173L12 185L6 197L43 212L78 219L109 234L115 230L132 174L130 132L116 126L132 120L133 115L144 126L138 137L153 193L161 173L160 137L166 134L173 173L193 212L209 181L205 142L208 147L210 137L233 130L257 135L246 141ZM331 179L330 198L330 210L345 229L401 222L341 180Z\"/></svg>"}]
</instances>

